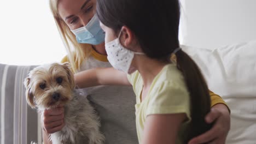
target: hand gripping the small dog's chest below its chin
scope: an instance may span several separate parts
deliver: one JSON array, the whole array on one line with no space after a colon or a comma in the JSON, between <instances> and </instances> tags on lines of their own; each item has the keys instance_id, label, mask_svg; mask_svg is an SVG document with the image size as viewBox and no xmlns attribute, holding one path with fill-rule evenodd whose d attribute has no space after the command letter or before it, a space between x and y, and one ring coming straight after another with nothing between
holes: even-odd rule
<instances>
[{"instance_id":1,"label":"hand gripping the small dog's chest below its chin","mask_svg":"<svg viewBox=\"0 0 256 144\"><path fill-rule=\"evenodd\" d=\"M60 131L64 123L64 107L57 107L56 109L44 110L41 114L42 129L48 133L53 134Z\"/></svg>"}]
</instances>

